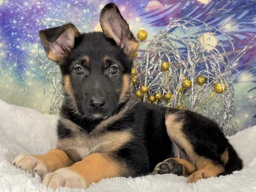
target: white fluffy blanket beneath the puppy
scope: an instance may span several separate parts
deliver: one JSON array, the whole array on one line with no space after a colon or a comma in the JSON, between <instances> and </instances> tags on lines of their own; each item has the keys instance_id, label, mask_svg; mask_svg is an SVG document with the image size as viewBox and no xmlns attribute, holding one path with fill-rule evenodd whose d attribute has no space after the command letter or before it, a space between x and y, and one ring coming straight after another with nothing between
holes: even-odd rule
<instances>
[{"instance_id":1,"label":"white fluffy blanket beneath the puppy","mask_svg":"<svg viewBox=\"0 0 256 192\"><path fill-rule=\"evenodd\" d=\"M15 168L9 162L20 153L44 154L56 143L58 116L9 105L0 100L0 192L54 191L39 176ZM256 192L256 126L228 138L241 158L244 169L233 175L186 183L173 174L137 178L115 177L93 183L87 189L60 187L58 192Z\"/></svg>"}]
</instances>

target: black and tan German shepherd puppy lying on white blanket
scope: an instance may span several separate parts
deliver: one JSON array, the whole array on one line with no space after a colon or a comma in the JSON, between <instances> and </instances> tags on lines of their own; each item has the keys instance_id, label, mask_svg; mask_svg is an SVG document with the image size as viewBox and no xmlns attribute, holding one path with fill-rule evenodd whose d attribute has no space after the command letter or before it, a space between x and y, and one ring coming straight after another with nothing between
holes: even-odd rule
<instances>
[{"instance_id":1,"label":"black and tan German shepherd puppy lying on white blanket","mask_svg":"<svg viewBox=\"0 0 256 192\"><path fill-rule=\"evenodd\" d=\"M86 188L102 178L152 171L191 183L242 169L211 119L132 96L138 43L113 3L102 9L100 24L103 32L81 34L71 23L39 32L63 75L58 143L47 154L20 154L12 163L52 188Z\"/></svg>"}]
</instances>

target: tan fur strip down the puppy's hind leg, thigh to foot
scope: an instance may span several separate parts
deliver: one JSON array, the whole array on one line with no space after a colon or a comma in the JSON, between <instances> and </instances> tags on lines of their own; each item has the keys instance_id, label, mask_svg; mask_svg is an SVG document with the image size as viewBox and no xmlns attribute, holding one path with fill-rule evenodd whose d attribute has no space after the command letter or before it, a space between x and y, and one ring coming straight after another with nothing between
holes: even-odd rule
<instances>
[{"instance_id":1,"label":"tan fur strip down the puppy's hind leg, thigh to foot","mask_svg":"<svg viewBox=\"0 0 256 192\"><path fill-rule=\"evenodd\" d=\"M197 172L193 173L192 176L188 178L188 182L195 182L200 178L205 177L216 177L218 174L225 171L224 166L215 164L212 160L205 157L199 156L195 153L192 145L189 140L186 138L186 135L183 134L183 120L178 121L182 117L182 111L177 113L167 114L166 115L166 130L170 139L178 144L186 152L186 155L189 157L189 161L195 165ZM201 171L204 169L204 171ZM200 172L199 172L200 171ZM203 176L199 177L200 173L204 173ZM195 177L195 179L193 179Z\"/></svg>"}]
</instances>

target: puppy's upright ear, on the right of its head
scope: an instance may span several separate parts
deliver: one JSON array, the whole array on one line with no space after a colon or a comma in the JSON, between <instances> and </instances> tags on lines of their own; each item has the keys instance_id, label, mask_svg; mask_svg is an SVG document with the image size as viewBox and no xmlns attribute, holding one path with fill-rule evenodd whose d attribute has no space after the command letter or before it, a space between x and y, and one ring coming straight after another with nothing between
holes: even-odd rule
<instances>
[{"instance_id":1,"label":"puppy's upright ear, on the right of its head","mask_svg":"<svg viewBox=\"0 0 256 192\"><path fill-rule=\"evenodd\" d=\"M114 3L108 3L102 9L99 22L105 36L113 39L124 50L125 54L133 58L138 43Z\"/></svg>"}]
</instances>

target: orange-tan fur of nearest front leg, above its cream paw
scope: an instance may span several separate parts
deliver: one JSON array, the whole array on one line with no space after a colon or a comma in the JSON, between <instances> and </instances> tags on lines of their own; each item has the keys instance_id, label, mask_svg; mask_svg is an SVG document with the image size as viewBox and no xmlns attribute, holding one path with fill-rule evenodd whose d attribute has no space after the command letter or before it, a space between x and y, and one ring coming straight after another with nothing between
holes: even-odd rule
<instances>
[{"instance_id":1,"label":"orange-tan fur of nearest front leg, above its cream paw","mask_svg":"<svg viewBox=\"0 0 256 192\"><path fill-rule=\"evenodd\" d=\"M87 185L96 183L103 178L122 176L128 172L127 166L109 154L93 153L83 160L68 167L72 172L84 178Z\"/></svg>"}]
</instances>

